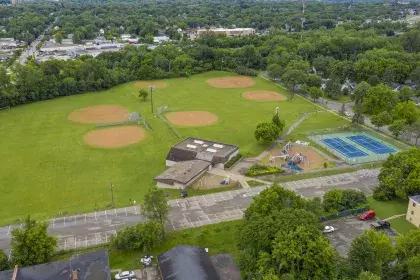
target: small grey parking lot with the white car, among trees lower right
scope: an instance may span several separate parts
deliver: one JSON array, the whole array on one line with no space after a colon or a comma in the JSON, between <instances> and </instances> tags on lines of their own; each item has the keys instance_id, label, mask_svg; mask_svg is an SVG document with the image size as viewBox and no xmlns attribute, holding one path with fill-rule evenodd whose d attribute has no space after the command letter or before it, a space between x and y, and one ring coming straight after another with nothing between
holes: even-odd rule
<instances>
[{"instance_id":1,"label":"small grey parking lot with the white car, among trees lower right","mask_svg":"<svg viewBox=\"0 0 420 280\"><path fill-rule=\"evenodd\" d=\"M370 229L372 223L375 223L375 220L361 221L357 216L350 216L340 220L325 222L324 225L333 226L336 229L332 233L327 233L326 236L340 256L347 257L353 239L365 230ZM389 236L398 235L392 229L387 229L385 232Z\"/></svg>"}]
</instances>

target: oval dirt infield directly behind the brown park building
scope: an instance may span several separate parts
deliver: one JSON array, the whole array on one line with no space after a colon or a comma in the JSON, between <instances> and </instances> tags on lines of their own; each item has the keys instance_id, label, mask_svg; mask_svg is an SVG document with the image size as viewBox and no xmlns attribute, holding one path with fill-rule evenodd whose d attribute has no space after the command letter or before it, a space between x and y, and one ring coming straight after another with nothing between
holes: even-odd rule
<instances>
[{"instance_id":1,"label":"oval dirt infield directly behind the brown park building","mask_svg":"<svg viewBox=\"0 0 420 280\"><path fill-rule=\"evenodd\" d=\"M206 126L218 120L215 114L206 111L169 112L165 117L179 126Z\"/></svg>"}]
</instances>

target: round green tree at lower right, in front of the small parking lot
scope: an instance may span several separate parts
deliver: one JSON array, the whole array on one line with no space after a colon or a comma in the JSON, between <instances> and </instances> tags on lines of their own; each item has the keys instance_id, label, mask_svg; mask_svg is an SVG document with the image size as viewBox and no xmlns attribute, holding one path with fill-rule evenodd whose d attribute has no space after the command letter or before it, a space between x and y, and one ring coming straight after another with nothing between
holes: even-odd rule
<instances>
[{"instance_id":1,"label":"round green tree at lower right, in front of the small parking lot","mask_svg":"<svg viewBox=\"0 0 420 280\"><path fill-rule=\"evenodd\" d=\"M353 239L349 253L349 274L357 277L368 271L381 277L390 270L395 258L395 250L388 235L383 232L367 230Z\"/></svg>"}]
</instances>

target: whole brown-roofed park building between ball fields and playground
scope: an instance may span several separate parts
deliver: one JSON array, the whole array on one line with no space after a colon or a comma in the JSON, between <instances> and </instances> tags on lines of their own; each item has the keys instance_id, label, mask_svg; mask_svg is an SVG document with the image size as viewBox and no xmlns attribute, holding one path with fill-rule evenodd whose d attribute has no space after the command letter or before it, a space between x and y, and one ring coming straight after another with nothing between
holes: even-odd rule
<instances>
[{"instance_id":1,"label":"whole brown-roofed park building between ball fields and playground","mask_svg":"<svg viewBox=\"0 0 420 280\"><path fill-rule=\"evenodd\" d=\"M212 167L224 168L238 146L188 137L171 148L166 171L155 177L159 188L184 189Z\"/></svg>"}]
</instances>

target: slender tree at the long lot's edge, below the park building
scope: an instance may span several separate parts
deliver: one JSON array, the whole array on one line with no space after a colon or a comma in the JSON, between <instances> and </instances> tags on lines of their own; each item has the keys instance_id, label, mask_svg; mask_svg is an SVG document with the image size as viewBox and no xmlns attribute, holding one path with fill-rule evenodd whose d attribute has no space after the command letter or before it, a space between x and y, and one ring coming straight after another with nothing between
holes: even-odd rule
<instances>
[{"instance_id":1,"label":"slender tree at the long lot's edge, below the park building","mask_svg":"<svg viewBox=\"0 0 420 280\"><path fill-rule=\"evenodd\" d=\"M144 196L141 209L147 219L164 225L165 221L168 220L171 207L168 204L165 191L154 186Z\"/></svg>"}]
</instances>

